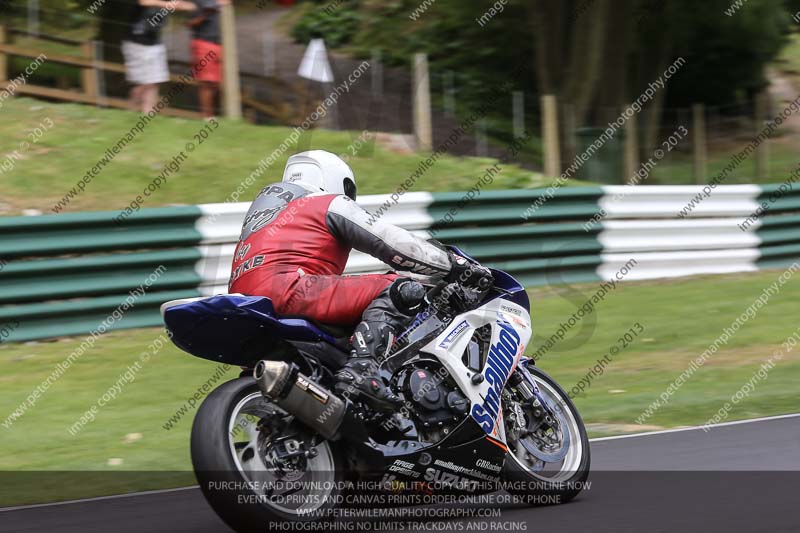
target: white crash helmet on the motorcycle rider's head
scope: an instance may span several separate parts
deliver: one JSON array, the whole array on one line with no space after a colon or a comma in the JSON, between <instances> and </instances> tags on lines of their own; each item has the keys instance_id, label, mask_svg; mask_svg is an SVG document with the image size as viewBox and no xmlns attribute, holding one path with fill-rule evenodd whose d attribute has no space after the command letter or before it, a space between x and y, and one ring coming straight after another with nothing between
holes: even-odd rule
<instances>
[{"instance_id":1,"label":"white crash helmet on the motorcycle rider's head","mask_svg":"<svg viewBox=\"0 0 800 533\"><path fill-rule=\"evenodd\" d=\"M356 179L350 165L325 150L310 150L291 156L286 162L282 181L356 199Z\"/></svg>"}]
</instances>

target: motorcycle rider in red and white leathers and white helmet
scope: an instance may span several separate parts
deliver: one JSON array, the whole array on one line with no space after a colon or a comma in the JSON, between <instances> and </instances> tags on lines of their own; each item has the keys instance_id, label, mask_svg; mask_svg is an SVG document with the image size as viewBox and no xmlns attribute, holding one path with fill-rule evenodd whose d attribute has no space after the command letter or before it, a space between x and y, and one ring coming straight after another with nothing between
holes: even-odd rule
<instances>
[{"instance_id":1,"label":"motorcycle rider in red and white leathers and white helmet","mask_svg":"<svg viewBox=\"0 0 800 533\"><path fill-rule=\"evenodd\" d=\"M489 276L414 234L382 222L355 202L353 171L336 155L293 155L283 180L264 187L245 216L234 252L229 291L269 297L281 315L323 324L353 325L350 360L337 388L352 387L378 410L399 402L383 383L377 359L389 354L398 329L420 308L425 288L397 274L343 276L355 248L426 276ZM352 389L351 389L352 390Z\"/></svg>"}]
</instances>

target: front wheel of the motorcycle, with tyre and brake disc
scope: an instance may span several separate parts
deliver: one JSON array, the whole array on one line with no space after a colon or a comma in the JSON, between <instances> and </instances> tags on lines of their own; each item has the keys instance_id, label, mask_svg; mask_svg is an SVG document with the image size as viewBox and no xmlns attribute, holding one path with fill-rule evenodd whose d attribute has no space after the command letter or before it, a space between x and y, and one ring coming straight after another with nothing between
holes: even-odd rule
<instances>
[{"instance_id":1,"label":"front wheel of the motorcycle, with tyre and brake disc","mask_svg":"<svg viewBox=\"0 0 800 533\"><path fill-rule=\"evenodd\" d=\"M567 393L533 365L521 364L503 394L507 490L536 505L566 503L585 487L586 428Z\"/></svg>"}]
</instances>

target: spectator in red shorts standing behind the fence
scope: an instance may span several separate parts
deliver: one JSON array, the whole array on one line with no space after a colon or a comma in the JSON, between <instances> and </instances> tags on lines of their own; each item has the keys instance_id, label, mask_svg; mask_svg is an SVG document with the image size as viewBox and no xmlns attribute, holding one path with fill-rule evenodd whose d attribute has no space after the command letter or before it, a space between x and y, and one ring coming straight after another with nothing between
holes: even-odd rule
<instances>
[{"instance_id":1,"label":"spectator in red shorts standing behind the fence","mask_svg":"<svg viewBox=\"0 0 800 533\"><path fill-rule=\"evenodd\" d=\"M192 29L192 62L199 83L200 112L214 116L219 84L222 80L222 46L220 44L220 7L230 0L197 0L197 12L189 20Z\"/></svg>"}]
</instances>

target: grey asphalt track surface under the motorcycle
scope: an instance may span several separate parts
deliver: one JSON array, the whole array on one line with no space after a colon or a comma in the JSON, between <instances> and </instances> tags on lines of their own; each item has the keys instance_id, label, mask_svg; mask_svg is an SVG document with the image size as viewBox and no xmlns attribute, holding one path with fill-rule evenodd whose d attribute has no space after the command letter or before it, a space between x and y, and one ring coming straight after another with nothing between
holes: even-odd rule
<instances>
[{"instance_id":1,"label":"grey asphalt track surface under the motorcycle","mask_svg":"<svg viewBox=\"0 0 800 533\"><path fill-rule=\"evenodd\" d=\"M572 503L408 531L800 531L800 415L592 441L592 485ZM482 507L483 508L483 507ZM393 519L393 523L397 523ZM341 529L340 529L341 530ZM0 509L0 531L230 531L197 488ZM285 531L293 531L286 529ZM296 530L295 530L296 531Z\"/></svg>"}]
</instances>

